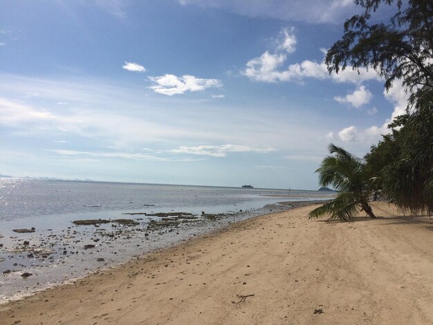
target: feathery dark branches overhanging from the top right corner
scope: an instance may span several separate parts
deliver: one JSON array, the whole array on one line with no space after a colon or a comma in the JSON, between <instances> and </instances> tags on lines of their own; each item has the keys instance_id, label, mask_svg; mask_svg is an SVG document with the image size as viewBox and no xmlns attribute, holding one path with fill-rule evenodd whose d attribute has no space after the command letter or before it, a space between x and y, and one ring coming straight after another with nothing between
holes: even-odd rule
<instances>
[{"instance_id":1,"label":"feathery dark branches overhanging from the top right corner","mask_svg":"<svg viewBox=\"0 0 433 325\"><path fill-rule=\"evenodd\" d=\"M326 54L329 72L347 66L374 68L389 89L403 80L409 89L433 87L433 3L427 0L356 0L365 9L344 24L342 39ZM381 3L395 8L389 24L369 24Z\"/></svg>"}]
</instances>

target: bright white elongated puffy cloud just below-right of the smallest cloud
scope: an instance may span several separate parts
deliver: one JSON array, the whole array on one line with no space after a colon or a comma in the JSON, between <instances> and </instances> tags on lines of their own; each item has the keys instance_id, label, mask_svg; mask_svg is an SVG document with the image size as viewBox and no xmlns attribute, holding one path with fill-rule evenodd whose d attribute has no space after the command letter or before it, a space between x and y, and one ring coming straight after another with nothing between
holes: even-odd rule
<instances>
[{"instance_id":1,"label":"bright white elongated puffy cloud just below-right of the smallest cloud","mask_svg":"<svg viewBox=\"0 0 433 325\"><path fill-rule=\"evenodd\" d=\"M221 87L221 81L217 79L201 79L194 77L194 75L183 75L177 77L176 75L162 75L160 77L149 77L155 83L150 89L156 93L163 95L178 95L186 93L187 91L203 91L204 89L212 87Z\"/></svg>"}]
</instances>

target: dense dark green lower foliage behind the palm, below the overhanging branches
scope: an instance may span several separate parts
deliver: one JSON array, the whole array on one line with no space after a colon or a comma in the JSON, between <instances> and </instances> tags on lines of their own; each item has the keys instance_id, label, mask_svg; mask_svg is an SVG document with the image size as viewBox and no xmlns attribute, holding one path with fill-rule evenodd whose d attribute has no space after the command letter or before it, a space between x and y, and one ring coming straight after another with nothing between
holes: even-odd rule
<instances>
[{"instance_id":1,"label":"dense dark green lower foliage behind the palm, below the overhanging branches","mask_svg":"<svg viewBox=\"0 0 433 325\"><path fill-rule=\"evenodd\" d=\"M402 210L433 212L433 91L416 93L413 113L402 115L365 157L378 187ZM403 127L402 127L403 126Z\"/></svg>"}]
</instances>

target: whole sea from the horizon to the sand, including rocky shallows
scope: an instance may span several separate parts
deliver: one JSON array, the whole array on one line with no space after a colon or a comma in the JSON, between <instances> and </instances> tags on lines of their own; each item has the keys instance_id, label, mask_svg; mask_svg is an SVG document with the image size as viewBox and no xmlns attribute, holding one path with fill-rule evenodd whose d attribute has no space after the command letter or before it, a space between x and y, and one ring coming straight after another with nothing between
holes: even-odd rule
<instances>
[{"instance_id":1,"label":"whole sea from the horizon to the sand, including rocky shallows","mask_svg":"<svg viewBox=\"0 0 433 325\"><path fill-rule=\"evenodd\" d=\"M236 221L286 210L291 202L329 200L332 195L293 189L0 178L0 304ZM168 219L158 213L168 214ZM175 213L191 219L172 219ZM73 223L89 219L107 223ZM118 219L132 223L115 222ZM14 231L22 229L30 232Z\"/></svg>"}]
</instances>

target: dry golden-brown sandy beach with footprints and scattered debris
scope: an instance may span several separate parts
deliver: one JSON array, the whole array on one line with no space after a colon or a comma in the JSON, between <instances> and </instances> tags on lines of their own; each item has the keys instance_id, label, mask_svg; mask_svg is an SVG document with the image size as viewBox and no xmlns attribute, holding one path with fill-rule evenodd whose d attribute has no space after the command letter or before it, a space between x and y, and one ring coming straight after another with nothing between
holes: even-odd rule
<instances>
[{"instance_id":1,"label":"dry golden-brown sandy beach with footprints and scattered debris","mask_svg":"<svg viewBox=\"0 0 433 325\"><path fill-rule=\"evenodd\" d=\"M433 219L241 221L0 306L3 324L432 324Z\"/></svg>"}]
</instances>

